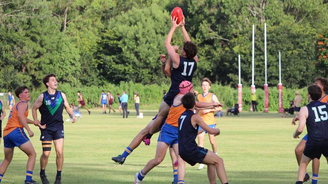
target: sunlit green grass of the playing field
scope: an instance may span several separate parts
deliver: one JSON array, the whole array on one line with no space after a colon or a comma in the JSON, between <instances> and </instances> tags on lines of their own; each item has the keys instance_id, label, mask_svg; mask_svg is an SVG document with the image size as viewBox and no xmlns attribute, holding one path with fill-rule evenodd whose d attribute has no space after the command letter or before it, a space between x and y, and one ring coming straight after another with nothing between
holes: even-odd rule
<instances>
[{"instance_id":1,"label":"sunlit green grass of the playing field","mask_svg":"<svg viewBox=\"0 0 328 184\"><path fill-rule=\"evenodd\" d=\"M65 122L63 183L133 183L135 172L154 157L158 134L153 136L150 146L142 143L134 150L123 165L114 163L111 157L121 154L156 113L143 112L144 119L136 119L134 110L128 119L122 119L119 113L102 115L99 109L94 109L87 115L82 109L83 118L77 123ZM67 114L64 115L66 118ZM243 112L240 117L217 118L217 127L221 129L221 135L216 137L218 154L225 160L229 183L295 183L298 166L294 149L299 139L292 137L296 127L291 125L291 119L281 118L278 113L249 112ZM6 121L3 128L5 125ZM31 141L37 152L34 179L40 182L40 131L34 126L32 130L35 136ZM205 140L205 147L210 148L208 139ZM1 151L0 159L3 157ZM52 145L46 167L50 183L56 176L55 157ZM15 148L13 161L2 183L23 183L26 161L27 156ZM186 183L208 183L206 169L197 170L197 167L187 164ZM171 183L172 171L167 154L165 160L146 175L143 183ZM308 171L311 174L311 166ZM327 171L326 161L321 157L319 183L328 183Z\"/></svg>"}]
</instances>

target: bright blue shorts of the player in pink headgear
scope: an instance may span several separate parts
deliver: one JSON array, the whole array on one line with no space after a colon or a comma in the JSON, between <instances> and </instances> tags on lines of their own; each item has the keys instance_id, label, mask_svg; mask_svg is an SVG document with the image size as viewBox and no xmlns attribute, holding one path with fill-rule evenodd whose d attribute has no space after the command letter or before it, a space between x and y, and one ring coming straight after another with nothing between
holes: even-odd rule
<instances>
[{"instance_id":1,"label":"bright blue shorts of the player in pink headgear","mask_svg":"<svg viewBox=\"0 0 328 184\"><path fill-rule=\"evenodd\" d=\"M164 124L159 132L157 141L165 142L170 146L178 144L178 127Z\"/></svg>"}]
</instances>

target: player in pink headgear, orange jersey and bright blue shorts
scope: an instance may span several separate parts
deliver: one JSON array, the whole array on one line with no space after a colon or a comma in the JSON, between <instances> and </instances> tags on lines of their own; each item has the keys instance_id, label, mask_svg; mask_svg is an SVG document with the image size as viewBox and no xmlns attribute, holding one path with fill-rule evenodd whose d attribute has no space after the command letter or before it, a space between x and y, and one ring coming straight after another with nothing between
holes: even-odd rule
<instances>
[{"instance_id":1,"label":"player in pink headgear, orange jersey and bright blue shorts","mask_svg":"<svg viewBox=\"0 0 328 184\"><path fill-rule=\"evenodd\" d=\"M174 98L173 104L170 108L170 112L166 123L162 126L160 134L157 140L156 155L154 159L148 161L145 167L137 172L134 179L134 184L141 183L145 175L156 165L160 164L165 158L166 151L169 146L172 146L176 153L178 160L178 182L184 183L185 175L185 162L179 156L178 151L178 119L185 111L185 108L181 104L181 99L186 93L193 93L193 85L190 81L182 81L179 85L180 93ZM219 103L206 103L207 107L219 106Z\"/></svg>"}]
</instances>

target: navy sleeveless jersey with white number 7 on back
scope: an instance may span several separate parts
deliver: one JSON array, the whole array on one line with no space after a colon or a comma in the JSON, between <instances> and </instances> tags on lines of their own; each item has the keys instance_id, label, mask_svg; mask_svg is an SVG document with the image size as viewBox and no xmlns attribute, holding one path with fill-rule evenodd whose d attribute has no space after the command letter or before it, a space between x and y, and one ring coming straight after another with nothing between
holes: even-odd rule
<instances>
[{"instance_id":1,"label":"navy sleeveless jersey with white number 7 on back","mask_svg":"<svg viewBox=\"0 0 328 184\"><path fill-rule=\"evenodd\" d=\"M193 127L191 124L191 117L195 113L190 110L186 110L182 113L179 118L179 132L178 132L178 145L179 145L179 154L192 153L197 147L195 141L198 133L198 125Z\"/></svg>"}]
</instances>

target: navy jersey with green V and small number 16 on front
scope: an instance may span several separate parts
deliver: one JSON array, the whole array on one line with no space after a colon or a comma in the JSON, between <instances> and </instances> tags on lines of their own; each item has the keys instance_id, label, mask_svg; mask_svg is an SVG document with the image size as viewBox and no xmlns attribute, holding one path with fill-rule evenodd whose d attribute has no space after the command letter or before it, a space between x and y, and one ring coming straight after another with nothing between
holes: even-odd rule
<instances>
[{"instance_id":1,"label":"navy jersey with green V and small number 16 on front","mask_svg":"<svg viewBox=\"0 0 328 184\"><path fill-rule=\"evenodd\" d=\"M41 125L46 124L46 129L63 127L64 99L61 91L56 90L54 95L48 91L43 92L42 105L39 108Z\"/></svg>"}]
</instances>

